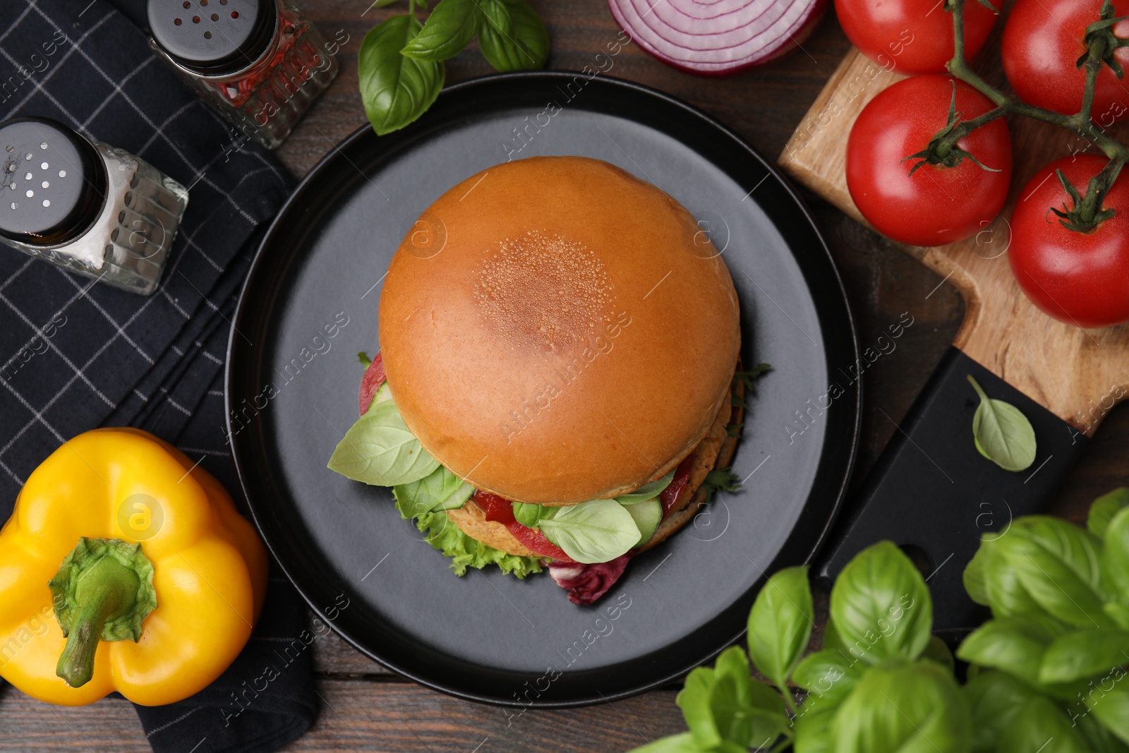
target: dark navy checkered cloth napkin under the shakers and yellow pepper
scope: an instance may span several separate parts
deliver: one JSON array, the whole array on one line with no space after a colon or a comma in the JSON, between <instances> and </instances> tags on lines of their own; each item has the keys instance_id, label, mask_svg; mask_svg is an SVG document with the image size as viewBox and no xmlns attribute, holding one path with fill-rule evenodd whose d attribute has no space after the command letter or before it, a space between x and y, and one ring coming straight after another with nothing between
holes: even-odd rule
<instances>
[{"instance_id":1,"label":"dark navy checkered cloth napkin under the shakers and yellow pepper","mask_svg":"<svg viewBox=\"0 0 1129 753\"><path fill-rule=\"evenodd\" d=\"M152 54L130 20L143 19L143 0L116 1L0 3L0 120L53 117L139 155L190 187L189 208L148 298L0 246L0 520L43 458L97 426L152 431L238 491L224 353L252 254L291 181ZM299 736L316 715L310 658L278 649L308 646L304 631L300 599L272 575L259 628L224 676L180 703L138 708L154 750L272 751ZM271 682L251 698L266 667Z\"/></svg>"}]
</instances>

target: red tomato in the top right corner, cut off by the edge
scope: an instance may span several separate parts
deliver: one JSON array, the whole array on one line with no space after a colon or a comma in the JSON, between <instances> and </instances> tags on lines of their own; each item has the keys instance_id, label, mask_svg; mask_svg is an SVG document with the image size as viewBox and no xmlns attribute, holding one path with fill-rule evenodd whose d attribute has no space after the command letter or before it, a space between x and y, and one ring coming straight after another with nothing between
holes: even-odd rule
<instances>
[{"instance_id":1,"label":"red tomato in the top right corner, cut off by the edge","mask_svg":"<svg viewBox=\"0 0 1129 753\"><path fill-rule=\"evenodd\" d=\"M1101 2L1088 0L1019 0L1004 26L1000 51L1004 72L1024 102L1073 115L1082 110L1086 88L1085 68L1075 62L1086 52L1086 27L1099 20ZM1113 3L1114 16L1129 15L1129 0ZM1119 37L1129 36L1129 21L1113 26ZM1114 60L1129 68L1129 49L1120 47ZM1129 112L1129 84L1118 80L1102 65L1094 88L1092 116L1099 125L1110 125Z\"/></svg>"}]
</instances>

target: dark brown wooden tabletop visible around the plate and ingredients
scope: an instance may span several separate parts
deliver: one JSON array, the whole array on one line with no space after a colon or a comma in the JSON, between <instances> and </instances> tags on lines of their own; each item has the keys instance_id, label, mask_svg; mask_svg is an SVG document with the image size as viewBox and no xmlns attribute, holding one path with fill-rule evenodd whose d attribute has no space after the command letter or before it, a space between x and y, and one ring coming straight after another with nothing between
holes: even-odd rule
<instances>
[{"instance_id":1,"label":"dark brown wooden tabletop visible around the plate and ingredients","mask_svg":"<svg viewBox=\"0 0 1129 753\"><path fill-rule=\"evenodd\" d=\"M333 143L365 124L357 90L357 51L366 32L399 8L366 11L368 1L300 0L327 37L341 30L349 42L339 55L340 77L278 151L296 175L305 174ZM619 32L604 0L533 2L549 25L551 68L581 69ZM633 46L615 58L610 75L681 97L774 158L848 47L829 14L802 51L736 78L688 76ZM489 72L474 50L447 64L448 81ZM864 380L858 481L894 431L886 417L898 420L905 413L956 333L964 305L953 288L890 243L815 196L805 193L805 198L846 281L860 344L873 342L903 312L913 316L896 350L879 358ZM1094 497L1129 483L1129 463L1122 457L1126 446L1129 411L1114 409L1052 511L1082 520ZM314 663L322 713L288 751L611 753L684 728L674 706L676 688L586 709L526 711L510 718L511 710L456 700L401 680L332 634L316 639ZM9 686L0 694L0 751L150 750L132 707L123 700L54 708Z\"/></svg>"}]
</instances>

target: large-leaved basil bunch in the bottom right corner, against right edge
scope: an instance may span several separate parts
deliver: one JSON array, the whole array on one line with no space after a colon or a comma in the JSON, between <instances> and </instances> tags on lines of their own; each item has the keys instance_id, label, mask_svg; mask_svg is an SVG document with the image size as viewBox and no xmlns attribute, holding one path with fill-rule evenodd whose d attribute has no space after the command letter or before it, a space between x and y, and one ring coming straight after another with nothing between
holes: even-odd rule
<instances>
[{"instance_id":1,"label":"large-leaved basil bunch in the bottom right corner, against right edge","mask_svg":"<svg viewBox=\"0 0 1129 753\"><path fill-rule=\"evenodd\" d=\"M1006 535L986 536L965 568L969 595L992 611L956 651L981 667L968 690L990 707L977 712L983 750L1024 750L1039 735L1039 745L1054 735L1057 750L1126 750L1127 504L1126 489L1097 498L1086 531L1018 518ZM1008 713L992 720L1006 700Z\"/></svg>"}]
</instances>

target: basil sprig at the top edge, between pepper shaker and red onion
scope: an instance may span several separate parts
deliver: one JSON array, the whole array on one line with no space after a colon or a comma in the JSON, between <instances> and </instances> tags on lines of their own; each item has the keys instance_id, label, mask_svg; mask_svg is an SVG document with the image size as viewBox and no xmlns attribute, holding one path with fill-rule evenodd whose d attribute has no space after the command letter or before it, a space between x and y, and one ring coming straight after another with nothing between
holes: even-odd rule
<instances>
[{"instance_id":1,"label":"basil sprig at the top edge, between pepper shaker and red onion","mask_svg":"<svg viewBox=\"0 0 1129 753\"><path fill-rule=\"evenodd\" d=\"M383 8L395 0L377 0ZM392 16L361 43L360 96L373 129L380 135L404 128L439 96L445 69L479 37L487 61L498 71L544 68L549 32L525 0L439 0L426 23L415 17L425 0L409 0L408 14Z\"/></svg>"}]
</instances>

